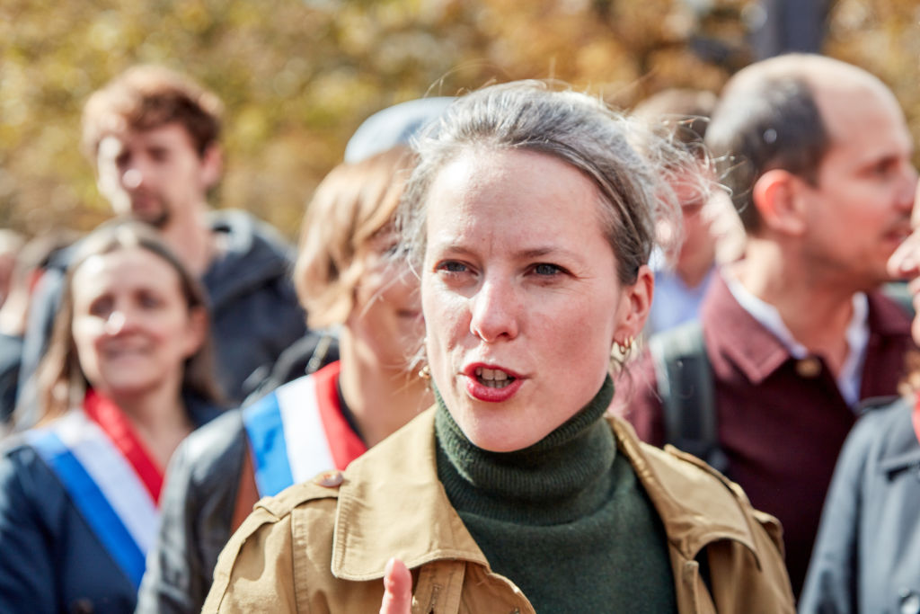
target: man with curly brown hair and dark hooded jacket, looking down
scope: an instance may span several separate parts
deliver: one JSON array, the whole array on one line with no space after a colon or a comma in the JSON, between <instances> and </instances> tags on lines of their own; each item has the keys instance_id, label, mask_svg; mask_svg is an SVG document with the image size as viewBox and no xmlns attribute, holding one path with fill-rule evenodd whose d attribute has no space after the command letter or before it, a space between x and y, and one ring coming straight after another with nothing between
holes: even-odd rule
<instances>
[{"instance_id":1,"label":"man with curly brown hair and dark hooded jacket, looking down","mask_svg":"<svg viewBox=\"0 0 920 614\"><path fill-rule=\"evenodd\" d=\"M213 314L218 380L239 401L247 377L273 363L306 325L289 279L290 246L245 212L209 210L208 193L223 171L222 115L213 92L185 75L135 66L87 100L82 145L114 214L153 226L201 279ZM20 383L44 351L66 264L65 255L41 284ZM34 408L28 392L21 400ZM29 422L24 415L22 423Z\"/></svg>"}]
</instances>

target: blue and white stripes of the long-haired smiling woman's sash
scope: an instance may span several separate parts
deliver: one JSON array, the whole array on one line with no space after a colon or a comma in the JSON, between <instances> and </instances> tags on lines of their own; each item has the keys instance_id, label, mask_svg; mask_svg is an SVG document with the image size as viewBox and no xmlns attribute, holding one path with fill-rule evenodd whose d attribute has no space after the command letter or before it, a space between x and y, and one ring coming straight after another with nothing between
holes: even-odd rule
<instances>
[{"instance_id":1,"label":"blue and white stripes of the long-haired smiling woman's sash","mask_svg":"<svg viewBox=\"0 0 920 614\"><path fill-rule=\"evenodd\" d=\"M89 401L87 395L87 406ZM159 511L151 485L109 431L110 424L103 430L86 411L73 410L47 427L32 429L27 437L103 547L139 587L147 550L156 539Z\"/></svg>"}]
</instances>

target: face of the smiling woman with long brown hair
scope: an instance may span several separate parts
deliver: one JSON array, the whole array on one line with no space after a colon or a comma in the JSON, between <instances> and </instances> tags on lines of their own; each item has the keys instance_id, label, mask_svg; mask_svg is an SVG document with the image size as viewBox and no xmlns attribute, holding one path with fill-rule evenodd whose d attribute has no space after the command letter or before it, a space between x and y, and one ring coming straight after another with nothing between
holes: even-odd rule
<instances>
[{"instance_id":1,"label":"face of the smiling woman with long brown hair","mask_svg":"<svg viewBox=\"0 0 920 614\"><path fill-rule=\"evenodd\" d=\"M73 336L87 381L110 397L181 385L205 315L190 311L178 272L143 248L91 256L74 273Z\"/></svg>"}]
</instances>

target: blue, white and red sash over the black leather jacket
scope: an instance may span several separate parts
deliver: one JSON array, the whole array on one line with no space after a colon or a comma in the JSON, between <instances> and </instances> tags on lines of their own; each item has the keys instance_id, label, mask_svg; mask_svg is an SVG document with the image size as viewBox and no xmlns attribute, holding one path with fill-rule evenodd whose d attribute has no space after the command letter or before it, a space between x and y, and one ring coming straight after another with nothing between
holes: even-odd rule
<instances>
[{"instance_id":1,"label":"blue, white and red sash over the black leather jacket","mask_svg":"<svg viewBox=\"0 0 920 614\"><path fill-rule=\"evenodd\" d=\"M339 362L277 388L243 410L259 496L282 492L366 450L339 406Z\"/></svg>"}]
</instances>

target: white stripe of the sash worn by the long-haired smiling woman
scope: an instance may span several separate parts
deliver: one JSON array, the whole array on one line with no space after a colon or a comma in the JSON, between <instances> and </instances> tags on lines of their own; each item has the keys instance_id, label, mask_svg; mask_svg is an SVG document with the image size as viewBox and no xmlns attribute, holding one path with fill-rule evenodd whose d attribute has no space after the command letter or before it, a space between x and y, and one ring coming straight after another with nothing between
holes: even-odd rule
<instances>
[{"instance_id":1,"label":"white stripe of the sash worn by the long-haired smiling woman","mask_svg":"<svg viewBox=\"0 0 920 614\"><path fill-rule=\"evenodd\" d=\"M155 543L159 511L128 459L83 411L70 411L49 428L83 465L146 554Z\"/></svg>"}]
</instances>

